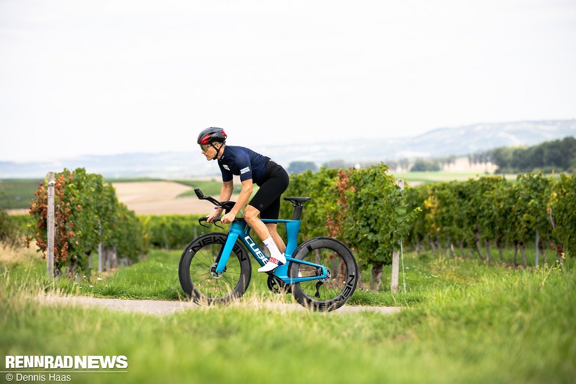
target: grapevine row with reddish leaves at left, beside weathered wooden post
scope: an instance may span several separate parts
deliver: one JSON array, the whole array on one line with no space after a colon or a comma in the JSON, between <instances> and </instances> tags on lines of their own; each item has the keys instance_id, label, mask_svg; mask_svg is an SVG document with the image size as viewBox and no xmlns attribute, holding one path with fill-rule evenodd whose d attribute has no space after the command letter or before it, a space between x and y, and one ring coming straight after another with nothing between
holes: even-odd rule
<instances>
[{"instance_id":1,"label":"grapevine row with reddish leaves at left, beside weathered wooden post","mask_svg":"<svg viewBox=\"0 0 576 384\"><path fill-rule=\"evenodd\" d=\"M48 193L46 181L35 192L30 208L34 225L26 237L47 250ZM65 169L55 178L54 274L74 276L89 270L90 256L102 245L118 258L137 261L145 251L145 234L134 212L118 202L116 193L98 174ZM62 271L65 268L65 271Z\"/></svg>"}]
</instances>

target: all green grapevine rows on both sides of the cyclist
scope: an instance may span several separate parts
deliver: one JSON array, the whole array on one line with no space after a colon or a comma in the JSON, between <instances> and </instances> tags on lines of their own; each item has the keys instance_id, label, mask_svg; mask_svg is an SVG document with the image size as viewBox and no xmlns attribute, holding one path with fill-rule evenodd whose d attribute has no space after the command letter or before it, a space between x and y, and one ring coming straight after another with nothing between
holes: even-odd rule
<instances>
[{"instance_id":1,"label":"all green grapevine rows on both sides of the cyclist","mask_svg":"<svg viewBox=\"0 0 576 384\"><path fill-rule=\"evenodd\" d=\"M520 174L513 182L486 176L403 189L382 164L292 174L285 196L313 197L306 204L298 242L320 235L342 239L362 267L372 271L372 286L377 287L382 267L391 263L400 243L416 252L487 262L502 263L504 254L513 252L511 264L524 267L550 260L562 263L566 252L576 247L574 191L574 176L541 173ZM28 227L28 241L35 239L45 252L44 182L35 195L33 222L18 215L10 220ZM100 175L83 169L58 174L55 195L57 274L89 269L98 245L104 254L114 254L116 262L137 261L149 248L180 249L206 231L223 231L200 226L196 215L136 216L118 202ZM283 203L281 217L291 214L290 204ZM282 234L283 228L279 231ZM526 259L526 247L537 248L532 263Z\"/></svg>"}]
</instances>

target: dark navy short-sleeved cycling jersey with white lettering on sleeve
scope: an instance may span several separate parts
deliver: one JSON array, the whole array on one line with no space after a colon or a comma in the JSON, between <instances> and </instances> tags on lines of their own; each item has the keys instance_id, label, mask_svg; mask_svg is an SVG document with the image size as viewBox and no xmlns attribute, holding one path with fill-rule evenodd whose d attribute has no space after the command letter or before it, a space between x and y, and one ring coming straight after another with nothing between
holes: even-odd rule
<instances>
[{"instance_id":1,"label":"dark navy short-sleeved cycling jersey with white lettering on sleeve","mask_svg":"<svg viewBox=\"0 0 576 384\"><path fill-rule=\"evenodd\" d=\"M235 174L240 181L252 179L252 183L260 185L266 176L266 157L245 147L225 146L218 166L224 182L231 181Z\"/></svg>"}]
</instances>

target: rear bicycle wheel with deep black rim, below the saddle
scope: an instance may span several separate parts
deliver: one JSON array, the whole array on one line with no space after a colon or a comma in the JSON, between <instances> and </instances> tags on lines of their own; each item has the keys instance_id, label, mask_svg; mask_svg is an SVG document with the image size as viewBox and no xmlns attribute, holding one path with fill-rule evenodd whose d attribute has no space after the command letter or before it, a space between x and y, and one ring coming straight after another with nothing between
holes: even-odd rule
<instances>
[{"instance_id":1,"label":"rear bicycle wheel with deep black rim, below the saddle","mask_svg":"<svg viewBox=\"0 0 576 384\"><path fill-rule=\"evenodd\" d=\"M327 268L328 277L294 283L291 290L300 305L316 311L333 311L343 306L358 284L358 265L351 250L331 237L314 237L294 251L294 258L320 264ZM320 268L291 261L289 276L321 276Z\"/></svg>"}]
</instances>

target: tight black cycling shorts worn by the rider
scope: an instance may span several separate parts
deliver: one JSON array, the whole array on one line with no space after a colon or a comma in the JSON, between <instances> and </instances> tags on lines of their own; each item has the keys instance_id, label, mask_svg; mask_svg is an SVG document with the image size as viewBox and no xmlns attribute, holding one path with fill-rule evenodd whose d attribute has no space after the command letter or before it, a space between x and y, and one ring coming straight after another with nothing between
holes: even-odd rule
<instances>
[{"instance_id":1,"label":"tight black cycling shorts worn by the rider","mask_svg":"<svg viewBox=\"0 0 576 384\"><path fill-rule=\"evenodd\" d=\"M266 174L260 189L248 203L260 211L260 219L278 219L280 214L280 196L288 188L289 178L286 170L274 160L266 157Z\"/></svg>"}]
</instances>

